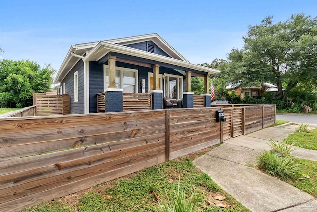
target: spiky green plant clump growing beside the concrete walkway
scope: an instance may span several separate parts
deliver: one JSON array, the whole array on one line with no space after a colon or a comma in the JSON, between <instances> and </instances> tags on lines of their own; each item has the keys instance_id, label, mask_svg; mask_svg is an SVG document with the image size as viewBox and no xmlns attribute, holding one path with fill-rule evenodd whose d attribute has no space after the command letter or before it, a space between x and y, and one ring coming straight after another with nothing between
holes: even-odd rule
<instances>
[{"instance_id":1,"label":"spiky green plant clump growing beside the concrete walkway","mask_svg":"<svg viewBox=\"0 0 317 212\"><path fill-rule=\"evenodd\" d=\"M294 144L288 146L286 141L277 143L271 141L269 145L271 146L270 151L264 151L257 156L259 169L274 177L285 180L295 179L302 169L299 168L300 164L294 162L294 158L290 155Z\"/></svg>"}]
</instances>

